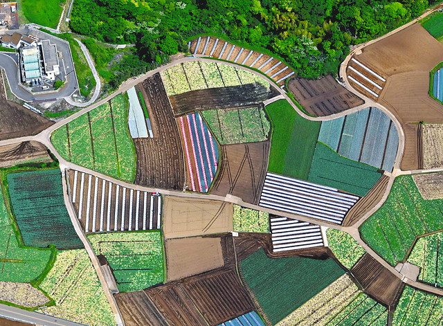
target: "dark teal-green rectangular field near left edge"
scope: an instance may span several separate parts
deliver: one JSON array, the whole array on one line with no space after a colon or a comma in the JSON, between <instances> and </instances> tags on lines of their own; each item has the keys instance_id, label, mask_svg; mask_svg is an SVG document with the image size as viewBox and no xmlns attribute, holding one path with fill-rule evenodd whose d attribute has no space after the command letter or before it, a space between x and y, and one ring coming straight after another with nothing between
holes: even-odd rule
<instances>
[{"instance_id":1,"label":"dark teal-green rectangular field near left edge","mask_svg":"<svg viewBox=\"0 0 443 326\"><path fill-rule=\"evenodd\" d=\"M26 246L83 247L64 206L59 169L15 172L7 179L12 211Z\"/></svg>"}]
</instances>

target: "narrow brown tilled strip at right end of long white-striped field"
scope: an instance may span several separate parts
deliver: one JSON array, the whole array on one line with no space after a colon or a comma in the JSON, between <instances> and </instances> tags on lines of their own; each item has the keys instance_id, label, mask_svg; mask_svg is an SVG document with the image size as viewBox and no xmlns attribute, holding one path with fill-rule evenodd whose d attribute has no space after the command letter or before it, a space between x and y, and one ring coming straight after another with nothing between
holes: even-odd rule
<instances>
[{"instance_id":1,"label":"narrow brown tilled strip at right end of long white-striped field","mask_svg":"<svg viewBox=\"0 0 443 326\"><path fill-rule=\"evenodd\" d=\"M347 212L345 219L343 220L343 226L352 226L355 224L361 217L363 217L367 212L369 212L374 206L381 201L381 197L386 191L389 183L389 176L383 174L379 181L375 183L374 187L366 194L365 197L362 197L357 201L357 203L352 206L349 212Z\"/></svg>"}]
</instances>

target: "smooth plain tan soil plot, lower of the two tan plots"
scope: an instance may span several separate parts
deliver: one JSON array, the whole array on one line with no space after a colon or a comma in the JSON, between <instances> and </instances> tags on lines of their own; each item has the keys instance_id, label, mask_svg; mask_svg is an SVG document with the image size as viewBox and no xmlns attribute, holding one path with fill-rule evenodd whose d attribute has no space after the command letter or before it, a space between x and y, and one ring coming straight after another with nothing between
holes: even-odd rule
<instances>
[{"instance_id":1,"label":"smooth plain tan soil plot, lower of the two tan plots","mask_svg":"<svg viewBox=\"0 0 443 326\"><path fill-rule=\"evenodd\" d=\"M165 241L168 282L224 265L221 237L185 237Z\"/></svg>"}]
</instances>

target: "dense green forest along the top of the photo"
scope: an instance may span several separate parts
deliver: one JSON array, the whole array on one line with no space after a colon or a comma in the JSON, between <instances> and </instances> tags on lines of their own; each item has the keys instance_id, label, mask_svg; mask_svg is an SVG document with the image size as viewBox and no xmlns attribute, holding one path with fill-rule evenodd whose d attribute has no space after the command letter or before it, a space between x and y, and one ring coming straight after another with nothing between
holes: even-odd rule
<instances>
[{"instance_id":1,"label":"dense green forest along the top of the photo","mask_svg":"<svg viewBox=\"0 0 443 326\"><path fill-rule=\"evenodd\" d=\"M195 35L266 49L305 78L331 73L350 46L419 16L433 0L75 0L73 32L136 44L112 68L110 87L187 51Z\"/></svg>"}]
</instances>

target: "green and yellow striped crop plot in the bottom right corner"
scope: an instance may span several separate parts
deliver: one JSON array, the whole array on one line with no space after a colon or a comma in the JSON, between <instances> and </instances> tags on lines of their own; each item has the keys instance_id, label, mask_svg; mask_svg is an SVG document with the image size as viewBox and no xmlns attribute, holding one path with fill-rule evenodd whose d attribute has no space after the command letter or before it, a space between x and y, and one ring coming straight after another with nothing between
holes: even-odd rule
<instances>
[{"instance_id":1,"label":"green and yellow striped crop plot in the bottom right corner","mask_svg":"<svg viewBox=\"0 0 443 326\"><path fill-rule=\"evenodd\" d=\"M443 298L406 286L394 311L392 326L442 325Z\"/></svg>"}]
</instances>

